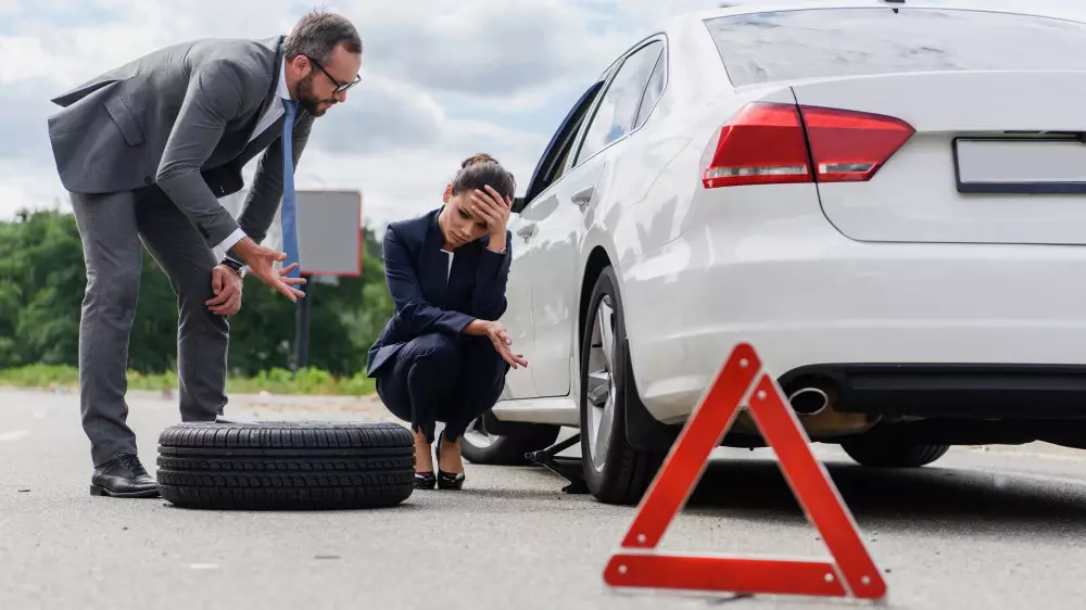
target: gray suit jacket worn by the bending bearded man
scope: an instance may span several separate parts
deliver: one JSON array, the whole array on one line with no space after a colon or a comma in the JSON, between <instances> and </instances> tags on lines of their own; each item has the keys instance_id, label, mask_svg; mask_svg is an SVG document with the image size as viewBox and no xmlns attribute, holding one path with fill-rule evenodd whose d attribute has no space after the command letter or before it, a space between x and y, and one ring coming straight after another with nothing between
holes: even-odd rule
<instances>
[{"instance_id":1,"label":"gray suit jacket worn by the bending bearded man","mask_svg":"<svg viewBox=\"0 0 1086 610\"><path fill-rule=\"evenodd\" d=\"M160 49L52 100L49 139L71 192L109 193L157 185L215 246L236 229L256 243L282 196L282 116L253 142L275 102L282 39L205 39ZM313 116L299 109L293 163ZM235 220L218 198L244 186L242 167L260 160Z\"/></svg>"}]
</instances>

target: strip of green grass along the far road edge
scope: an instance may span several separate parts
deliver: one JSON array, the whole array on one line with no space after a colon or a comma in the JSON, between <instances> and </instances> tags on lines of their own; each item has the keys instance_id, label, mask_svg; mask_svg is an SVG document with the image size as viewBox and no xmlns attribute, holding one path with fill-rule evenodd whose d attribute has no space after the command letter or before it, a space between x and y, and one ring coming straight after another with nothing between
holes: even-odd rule
<instances>
[{"instance_id":1,"label":"strip of green grass along the far road edge","mask_svg":"<svg viewBox=\"0 0 1086 610\"><path fill-rule=\"evenodd\" d=\"M75 367L30 365L22 368L0 369L0 385L18 387L77 387L79 371ZM128 371L130 390L173 390L177 387L175 371L161 374L142 374ZM283 369L262 371L256 377L227 377L226 391L233 394L319 394L364 396L376 391L372 379L364 373L350 378L336 378L319 369L301 369L298 376Z\"/></svg>"}]
</instances>

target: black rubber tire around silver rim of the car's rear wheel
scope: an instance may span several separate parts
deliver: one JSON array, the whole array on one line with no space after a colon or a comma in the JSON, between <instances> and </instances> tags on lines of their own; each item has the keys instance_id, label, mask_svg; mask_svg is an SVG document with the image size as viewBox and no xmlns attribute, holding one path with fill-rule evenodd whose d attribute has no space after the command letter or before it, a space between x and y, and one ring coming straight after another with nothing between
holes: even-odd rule
<instances>
[{"instance_id":1,"label":"black rubber tire around silver rim of the car's rear wheel","mask_svg":"<svg viewBox=\"0 0 1086 610\"><path fill-rule=\"evenodd\" d=\"M604 296L609 296L615 312L615 361L613 371L616 392L615 423L611 427L611 439L608 455L604 460L602 471L596 471L591 460L591 447L588 434L588 376L589 354L592 347L592 328L595 325L596 308ZM618 281L614 268L607 267L599 275L589 298L585 310L584 336L581 340L580 378L581 392L579 397L581 418L581 456L584 470L584 482L589 493L605 504L633 505L641 500L648 485L656 476L665 454L639 450L630 446L626 436L626 393L631 386L627 383L626 354L626 318L622 314L622 298L618 293Z\"/></svg>"}]
</instances>

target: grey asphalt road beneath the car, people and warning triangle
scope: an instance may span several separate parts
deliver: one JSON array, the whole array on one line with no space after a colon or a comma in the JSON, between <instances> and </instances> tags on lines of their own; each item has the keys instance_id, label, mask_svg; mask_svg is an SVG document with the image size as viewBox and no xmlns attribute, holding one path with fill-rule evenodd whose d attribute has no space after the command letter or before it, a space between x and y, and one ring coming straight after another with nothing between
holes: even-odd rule
<instances>
[{"instance_id":1,"label":"grey asphalt road beneath the car, people and warning triangle","mask_svg":"<svg viewBox=\"0 0 1086 610\"><path fill-rule=\"evenodd\" d=\"M144 463L176 399L131 401ZM632 508L542 469L468 465L462 492L396 508L207 512L91 497L72 394L0 389L0 609L855 607L616 593L602 571ZM366 399L236 398L231 417L392 420ZM1086 452L956 448L909 472L817 446L884 572L886 608L1086 607ZM770 453L719 452L661 547L825 558Z\"/></svg>"}]
</instances>

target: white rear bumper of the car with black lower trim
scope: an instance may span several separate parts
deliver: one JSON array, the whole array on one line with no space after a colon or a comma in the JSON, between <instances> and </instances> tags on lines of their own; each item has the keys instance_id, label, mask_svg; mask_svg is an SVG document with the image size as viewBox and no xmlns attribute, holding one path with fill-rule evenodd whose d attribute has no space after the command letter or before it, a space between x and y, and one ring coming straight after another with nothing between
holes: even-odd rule
<instances>
[{"instance_id":1,"label":"white rear bumper of the car with black lower trim","mask_svg":"<svg viewBox=\"0 0 1086 610\"><path fill-rule=\"evenodd\" d=\"M623 266L655 418L684 419L738 342L856 412L1086 417L1086 247L863 243L808 207L708 216Z\"/></svg>"}]
</instances>

